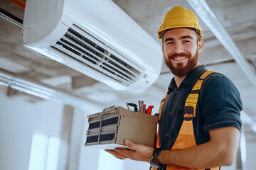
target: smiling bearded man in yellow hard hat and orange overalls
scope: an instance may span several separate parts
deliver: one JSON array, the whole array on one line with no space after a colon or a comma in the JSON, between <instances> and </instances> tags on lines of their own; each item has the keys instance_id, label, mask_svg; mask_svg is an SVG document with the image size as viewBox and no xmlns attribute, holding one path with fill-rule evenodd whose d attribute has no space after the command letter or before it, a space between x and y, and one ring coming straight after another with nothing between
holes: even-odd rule
<instances>
[{"instance_id":1,"label":"smiling bearded man in yellow hard hat and orange overalls","mask_svg":"<svg viewBox=\"0 0 256 170\"><path fill-rule=\"evenodd\" d=\"M199 65L203 31L194 13L181 6L172 8L158 35L166 65L174 74L159 109L158 148L125 140L132 150L107 152L119 159L150 162L161 170L230 166L242 125L238 90L223 74L206 72L206 67Z\"/></svg>"}]
</instances>

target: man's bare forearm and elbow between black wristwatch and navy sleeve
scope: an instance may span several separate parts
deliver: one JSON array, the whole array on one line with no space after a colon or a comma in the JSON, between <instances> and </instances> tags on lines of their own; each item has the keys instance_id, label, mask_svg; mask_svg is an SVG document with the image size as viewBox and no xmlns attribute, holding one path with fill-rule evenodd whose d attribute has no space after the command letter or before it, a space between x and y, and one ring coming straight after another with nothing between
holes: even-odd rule
<instances>
[{"instance_id":1,"label":"man's bare forearm and elbow between black wristwatch and navy sleeve","mask_svg":"<svg viewBox=\"0 0 256 170\"><path fill-rule=\"evenodd\" d=\"M210 130L210 141L183 150L162 151L162 164L175 164L195 169L230 166L238 148L240 131L235 127Z\"/></svg>"}]
</instances>

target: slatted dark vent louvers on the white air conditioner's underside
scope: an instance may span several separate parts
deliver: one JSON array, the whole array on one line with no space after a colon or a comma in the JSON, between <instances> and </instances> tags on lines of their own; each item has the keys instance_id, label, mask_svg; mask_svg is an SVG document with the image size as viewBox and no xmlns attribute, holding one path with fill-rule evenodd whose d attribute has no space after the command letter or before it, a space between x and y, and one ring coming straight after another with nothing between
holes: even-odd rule
<instances>
[{"instance_id":1,"label":"slatted dark vent louvers on the white air conditioner's underside","mask_svg":"<svg viewBox=\"0 0 256 170\"><path fill-rule=\"evenodd\" d=\"M112 50L107 50L109 47L106 45L96 44L78 33L75 29L79 28L76 26L73 28L69 28L55 45L51 45L50 50L61 53L78 62L82 67L90 67L127 86L139 79L142 74L139 69L121 60L122 56L118 56L119 54L112 54Z\"/></svg>"}]
</instances>

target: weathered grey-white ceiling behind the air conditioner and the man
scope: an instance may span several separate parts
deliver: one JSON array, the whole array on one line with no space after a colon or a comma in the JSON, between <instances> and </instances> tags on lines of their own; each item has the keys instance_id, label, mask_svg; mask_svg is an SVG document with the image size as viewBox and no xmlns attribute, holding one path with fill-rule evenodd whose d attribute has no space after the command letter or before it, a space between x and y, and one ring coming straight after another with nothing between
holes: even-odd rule
<instances>
[{"instance_id":1,"label":"weathered grey-white ceiling behind the air conditioner and the man","mask_svg":"<svg viewBox=\"0 0 256 170\"><path fill-rule=\"evenodd\" d=\"M123 11L139 23L155 40L156 30L161 18L173 6L184 6L193 9L185 0L114 0ZM243 57L256 70L256 1L255 0L211 0L207 1L215 16L237 45ZM0 7L23 19L23 9L0 0ZM256 121L255 101L256 87L252 86L242 69L235 63L233 57L213 33L201 21L205 47L200 54L200 63L206 64L208 69L228 76L238 87L242 96L244 111ZM163 65L161 75L149 89L141 92L114 91L111 87L99 83L90 77L82 75L69 67L50 60L23 47L21 28L0 18L0 71L8 71L16 77L23 77L31 81L48 84L63 91L79 95L87 101L95 102L102 108L116 105L125 106L125 103L144 100L147 105L158 108L159 101L164 96L172 78L169 69ZM159 42L160 43L160 42ZM12 96L24 95L21 92L9 94ZM31 96L31 98L33 98ZM32 100L33 101L33 100ZM38 98L34 98L38 101ZM38 101L40 102L40 101ZM254 133L252 133L254 134ZM256 141L256 137L254 138Z\"/></svg>"}]
</instances>

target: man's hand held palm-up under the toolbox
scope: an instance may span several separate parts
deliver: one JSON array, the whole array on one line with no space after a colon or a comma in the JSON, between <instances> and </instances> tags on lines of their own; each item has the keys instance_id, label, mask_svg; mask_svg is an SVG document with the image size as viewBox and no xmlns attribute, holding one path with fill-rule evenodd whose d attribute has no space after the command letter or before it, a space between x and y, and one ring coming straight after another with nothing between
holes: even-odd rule
<instances>
[{"instance_id":1,"label":"man's hand held palm-up under the toolbox","mask_svg":"<svg viewBox=\"0 0 256 170\"><path fill-rule=\"evenodd\" d=\"M115 148L114 150L105 149L106 152L109 152L114 157L118 159L132 159L135 161L142 161L142 162L151 162L152 153L154 151L153 147L146 147L144 145L134 144L132 141L125 140L125 145L129 147L129 149L119 149Z\"/></svg>"}]
</instances>

